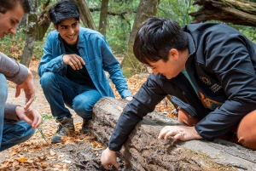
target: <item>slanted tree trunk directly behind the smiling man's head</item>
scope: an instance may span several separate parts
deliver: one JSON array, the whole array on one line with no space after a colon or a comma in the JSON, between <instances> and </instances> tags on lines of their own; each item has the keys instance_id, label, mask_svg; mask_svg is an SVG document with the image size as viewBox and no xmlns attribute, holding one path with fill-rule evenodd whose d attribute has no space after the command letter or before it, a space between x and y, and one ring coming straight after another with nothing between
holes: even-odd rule
<instances>
[{"instance_id":1,"label":"slanted tree trunk directly behind the smiling man's head","mask_svg":"<svg viewBox=\"0 0 256 171\"><path fill-rule=\"evenodd\" d=\"M88 9L87 4L84 0L71 0L73 3L76 3L79 7L80 18L84 23L84 26L93 30L96 30L95 23L90 14L90 9Z\"/></svg>"}]
</instances>

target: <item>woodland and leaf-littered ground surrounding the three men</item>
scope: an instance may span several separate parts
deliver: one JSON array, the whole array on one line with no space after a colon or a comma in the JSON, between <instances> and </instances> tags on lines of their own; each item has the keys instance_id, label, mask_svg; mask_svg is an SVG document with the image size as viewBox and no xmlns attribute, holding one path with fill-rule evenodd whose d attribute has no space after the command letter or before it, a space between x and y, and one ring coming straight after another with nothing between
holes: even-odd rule
<instances>
[{"instance_id":1,"label":"woodland and leaf-littered ground surrounding the three men","mask_svg":"<svg viewBox=\"0 0 256 171\"><path fill-rule=\"evenodd\" d=\"M72 1L79 5L81 26L101 31L106 37L113 54L121 63L132 94L137 93L138 88L150 72L132 54L135 34L143 21L150 16L176 20L180 26L198 22L224 22L241 31L254 43L256 42L256 0ZM90 157L94 161L92 165L101 166L99 157L106 146L97 142L93 135L77 134L74 139L68 139L64 145L49 144L50 137L55 134L57 123L51 117L49 104L40 89L37 69L38 62L44 53L45 39L49 31L54 30L48 19L47 10L56 2L57 0L31 0L32 13L26 15L20 22L16 35L0 39L1 52L29 66L32 70L37 90L37 97L32 107L36 108L44 117L44 123L31 140L0 153L0 170L79 170L78 167L84 164L82 163L84 159L81 159L82 162L71 162L72 160L67 156L71 153L75 154L70 151L71 148L81 151L84 146L84 149L90 149L87 156L93 156ZM22 105L24 98L14 99L14 94L15 85L9 83L9 102ZM115 95L119 99L116 91ZM173 109L174 106L165 99L157 105L155 111L174 118ZM75 113L73 113L73 117L76 118L75 127L79 129L81 120ZM74 156L73 159L76 157ZM125 170L126 163L123 163L123 170Z\"/></svg>"}]
</instances>

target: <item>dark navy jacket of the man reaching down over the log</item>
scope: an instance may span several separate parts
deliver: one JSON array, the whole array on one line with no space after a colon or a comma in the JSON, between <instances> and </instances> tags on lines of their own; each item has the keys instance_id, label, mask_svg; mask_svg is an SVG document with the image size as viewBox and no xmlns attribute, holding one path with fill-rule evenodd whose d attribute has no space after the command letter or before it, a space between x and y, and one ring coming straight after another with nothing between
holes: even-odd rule
<instances>
[{"instance_id":1,"label":"dark navy jacket of the man reaching down over the log","mask_svg":"<svg viewBox=\"0 0 256 171\"><path fill-rule=\"evenodd\" d=\"M201 119L195 130L206 140L227 133L256 109L256 44L224 24L187 25L183 31L189 38L186 71L199 96L183 73L172 79L149 75L119 117L110 150L119 151L136 124L167 94Z\"/></svg>"}]
</instances>

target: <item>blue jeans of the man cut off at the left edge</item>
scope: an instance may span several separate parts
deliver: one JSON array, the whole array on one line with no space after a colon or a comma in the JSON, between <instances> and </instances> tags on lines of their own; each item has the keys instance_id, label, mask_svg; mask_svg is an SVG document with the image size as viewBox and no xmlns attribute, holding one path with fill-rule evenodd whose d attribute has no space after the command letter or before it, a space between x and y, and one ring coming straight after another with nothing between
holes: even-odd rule
<instances>
[{"instance_id":1,"label":"blue jeans of the man cut off at the left edge","mask_svg":"<svg viewBox=\"0 0 256 171\"><path fill-rule=\"evenodd\" d=\"M31 125L25 121L16 122L4 119L4 106L8 96L6 78L0 73L0 151L25 142L35 133Z\"/></svg>"}]
</instances>

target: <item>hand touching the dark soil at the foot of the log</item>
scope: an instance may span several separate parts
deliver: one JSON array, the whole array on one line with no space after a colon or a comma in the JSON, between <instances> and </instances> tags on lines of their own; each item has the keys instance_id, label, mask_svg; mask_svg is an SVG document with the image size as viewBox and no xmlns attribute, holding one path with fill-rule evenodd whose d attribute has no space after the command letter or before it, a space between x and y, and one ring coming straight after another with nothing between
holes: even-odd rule
<instances>
[{"instance_id":1,"label":"hand touching the dark soil at the foot of the log","mask_svg":"<svg viewBox=\"0 0 256 171\"><path fill-rule=\"evenodd\" d=\"M116 162L116 154L115 151L111 151L108 148L102 151L101 157L102 166L107 170L112 170L112 167L121 170L118 162Z\"/></svg>"}]
</instances>

